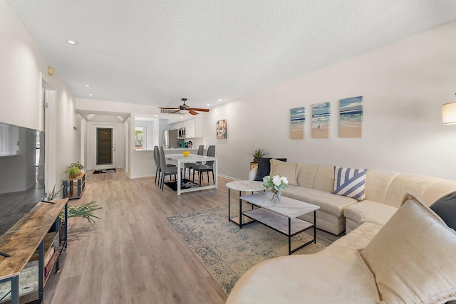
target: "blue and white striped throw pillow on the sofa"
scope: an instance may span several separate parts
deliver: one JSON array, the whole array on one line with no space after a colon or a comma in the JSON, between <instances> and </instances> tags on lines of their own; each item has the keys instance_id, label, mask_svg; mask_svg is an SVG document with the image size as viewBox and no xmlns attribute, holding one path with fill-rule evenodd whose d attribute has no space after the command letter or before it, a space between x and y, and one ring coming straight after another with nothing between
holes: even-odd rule
<instances>
[{"instance_id":1,"label":"blue and white striped throw pillow on the sofa","mask_svg":"<svg viewBox=\"0 0 456 304\"><path fill-rule=\"evenodd\" d=\"M368 169L334 167L333 194L353 197L362 201L365 197Z\"/></svg>"}]
</instances>

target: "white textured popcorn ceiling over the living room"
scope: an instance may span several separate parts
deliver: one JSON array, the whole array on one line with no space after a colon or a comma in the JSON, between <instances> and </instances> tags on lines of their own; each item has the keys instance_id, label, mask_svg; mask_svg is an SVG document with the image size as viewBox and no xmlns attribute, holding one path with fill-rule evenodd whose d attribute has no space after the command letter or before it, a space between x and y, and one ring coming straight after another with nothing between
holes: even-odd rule
<instances>
[{"instance_id":1,"label":"white textured popcorn ceiling over the living room","mask_svg":"<svg viewBox=\"0 0 456 304\"><path fill-rule=\"evenodd\" d=\"M76 97L162 106L212 107L456 19L454 0L8 2Z\"/></svg>"}]
</instances>

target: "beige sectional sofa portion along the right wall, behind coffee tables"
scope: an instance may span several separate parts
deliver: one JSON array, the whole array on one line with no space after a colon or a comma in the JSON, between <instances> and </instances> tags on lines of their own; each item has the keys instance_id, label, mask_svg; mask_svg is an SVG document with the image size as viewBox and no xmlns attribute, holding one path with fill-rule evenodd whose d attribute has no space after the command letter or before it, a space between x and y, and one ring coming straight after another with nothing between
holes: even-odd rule
<instances>
[{"instance_id":1,"label":"beige sectional sofa portion along the right wall, behind coffee tables","mask_svg":"<svg viewBox=\"0 0 456 304\"><path fill-rule=\"evenodd\" d=\"M256 168L252 169L249 179L254 179L256 174ZM290 187L284 189L282 195L320 206L316 211L317 228L336 235L343 231L348 234L365 222L384 225L407 192L417 195L430 206L441 196L456 191L456 181L453 180L368 169L366 197L358 201L331 194L335 179L333 166L271 159L270 175L276 174L289 179ZM301 217L313 221L310 215Z\"/></svg>"}]
</instances>

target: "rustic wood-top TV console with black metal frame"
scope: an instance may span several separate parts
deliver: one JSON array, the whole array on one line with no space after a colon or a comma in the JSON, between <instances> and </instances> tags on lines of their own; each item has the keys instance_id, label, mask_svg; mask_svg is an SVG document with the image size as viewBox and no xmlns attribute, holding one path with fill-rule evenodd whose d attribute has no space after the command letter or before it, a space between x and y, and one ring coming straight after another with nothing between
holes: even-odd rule
<instances>
[{"instance_id":1,"label":"rustic wood-top TV console with black metal frame","mask_svg":"<svg viewBox=\"0 0 456 304\"><path fill-rule=\"evenodd\" d=\"M19 276L38 251L38 300L43 300L43 288L49 273L45 274L44 256L58 240L55 253L49 265L58 272L58 261L67 246L68 199L52 201L53 204L39 202L28 211L14 226L0 236L0 283L11 281L11 303L19 304ZM61 231L59 214L64 210L65 222ZM49 240L49 241L48 241ZM37 250L38 249L38 250ZM33 302L33 303L35 303Z\"/></svg>"}]
</instances>

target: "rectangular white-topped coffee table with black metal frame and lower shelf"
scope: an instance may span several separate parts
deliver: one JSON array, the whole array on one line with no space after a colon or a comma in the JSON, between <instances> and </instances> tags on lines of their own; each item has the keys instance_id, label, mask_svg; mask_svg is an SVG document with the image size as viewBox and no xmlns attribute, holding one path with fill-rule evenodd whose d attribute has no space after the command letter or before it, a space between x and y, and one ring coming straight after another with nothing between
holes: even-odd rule
<instances>
[{"instance_id":1,"label":"rectangular white-topped coffee table with black metal frame and lower shelf","mask_svg":"<svg viewBox=\"0 0 456 304\"><path fill-rule=\"evenodd\" d=\"M242 211L242 201L247 201L247 203L259 208ZM297 199L290 199L285 196L281 196L281 201L279 203L274 203L271 201L271 194L269 192L240 196L239 229L242 229L242 226L250 224L252 221L258 221L264 226L288 236L288 254L290 255L312 242L316 243L315 223L316 211L318 209L320 209L320 206L298 201ZM298 219L298 216L311 213L312 211L314 211L314 223L309 223L309 221L304 221L304 219ZM252 221L249 223L242 223L243 216L247 216L249 219L252 219ZM314 228L314 239L291 250L291 237L301 234L301 232L311 228Z\"/></svg>"}]
</instances>

